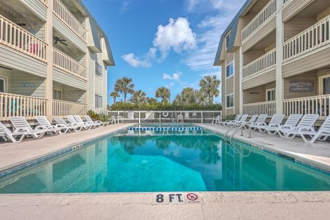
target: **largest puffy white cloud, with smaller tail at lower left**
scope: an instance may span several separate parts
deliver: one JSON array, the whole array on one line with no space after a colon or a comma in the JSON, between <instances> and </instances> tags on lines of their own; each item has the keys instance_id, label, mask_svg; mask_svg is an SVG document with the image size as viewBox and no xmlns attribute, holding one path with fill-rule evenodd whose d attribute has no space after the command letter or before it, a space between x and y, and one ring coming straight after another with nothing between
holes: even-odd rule
<instances>
[{"instance_id":1,"label":"largest puffy white cloud, with smaller tail at lower left","mask_svg":"<svg viewBox=\"0 0 330 220\"><path fill-rule=\"evenodd\" d=\"M196 34L192 32L188 19L171 18L167 25L158 25L153 39L153 47L146 54L139 57L130 53L122 58L132 67L151 67L152 61L157 59L157 52L162 55L159 58L159 61L162 61L168 56L170 50L180 53L184 50L193 50L196 45Z\"/></svg>"}]
</instances>

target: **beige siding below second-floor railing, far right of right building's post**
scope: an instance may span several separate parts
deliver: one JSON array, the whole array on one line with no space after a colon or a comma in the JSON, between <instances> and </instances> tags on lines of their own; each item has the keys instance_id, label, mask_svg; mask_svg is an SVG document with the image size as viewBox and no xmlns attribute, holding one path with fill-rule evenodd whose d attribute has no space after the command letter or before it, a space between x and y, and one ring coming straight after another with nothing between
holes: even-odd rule
<instances>
[{"instance_id":1,"label":"beige siding below second-floor railing, far right of right building's post","mask_svg":"<svg viewBox=\"0 0 330 220\"><path fill-rule=\"evenodd\" d=\"M330 65L330 45L283 64L283 78Z\"/></svg>"}]
</instances>

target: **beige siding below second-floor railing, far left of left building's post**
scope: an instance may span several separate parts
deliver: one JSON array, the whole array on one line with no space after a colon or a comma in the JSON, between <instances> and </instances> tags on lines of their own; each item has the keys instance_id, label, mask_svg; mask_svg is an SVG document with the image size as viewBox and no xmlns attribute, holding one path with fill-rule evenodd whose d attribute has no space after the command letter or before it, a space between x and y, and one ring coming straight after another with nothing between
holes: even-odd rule
<instances>
[{"instance_id":1,"label":"beige siding below second-floor railing, far left of left building's post","mask_svg":"<svg viewBox=\"0 0 330 220\"><path fill-rule=\"evenodd\" d=\"M47 76L46 63L1 44L0 65L35 74L36 76Z\"/></svg>"}]
</instances>

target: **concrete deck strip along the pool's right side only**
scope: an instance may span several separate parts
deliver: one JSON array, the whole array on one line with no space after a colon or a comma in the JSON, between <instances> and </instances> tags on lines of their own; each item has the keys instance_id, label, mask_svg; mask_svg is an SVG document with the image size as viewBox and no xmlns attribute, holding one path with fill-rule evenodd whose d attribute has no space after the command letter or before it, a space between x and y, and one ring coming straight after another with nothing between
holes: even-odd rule
<instances>
[{"instance_id":1,"label":"concrete deck strip along the pool's right side only","mask_svg":"<svg viewBox=\"0 0 330 220\"><path fill-rule=\"evenodd\" d=\"M197 124L198 126L221 133L222 135L228 130L228 127L212 125L212 124ZM329 142L315 142L314 144L308 144L303 142L300 137L295 139L288 139L279 137L278 135L268 135L267 133L260 133L252 131L252 138L248 138L248 131L241 131L237 133L234 138L243 142L249 142L268 148L272 151L276 151L294 157L302 162L319 166L326 170L330 170L330 143Z\"/></svg>"}]
</instances>

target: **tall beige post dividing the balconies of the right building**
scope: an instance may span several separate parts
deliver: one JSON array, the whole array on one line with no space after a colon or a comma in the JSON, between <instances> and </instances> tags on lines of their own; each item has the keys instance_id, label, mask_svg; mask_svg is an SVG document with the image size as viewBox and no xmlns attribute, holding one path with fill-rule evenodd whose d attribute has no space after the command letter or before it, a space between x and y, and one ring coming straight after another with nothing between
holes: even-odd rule
<instances>
[{"instance_id":1,"label":"tall beige post dividing the balconies of the right building","mask_svg":"<svg viewBox=\"0 0 330 220\"><path fill-rule=\"evenodd\" d=\"M283 113L283 41L284 24L282 19L283 1L276 1L276 113Z\"/></svg>"}]
</instances>

